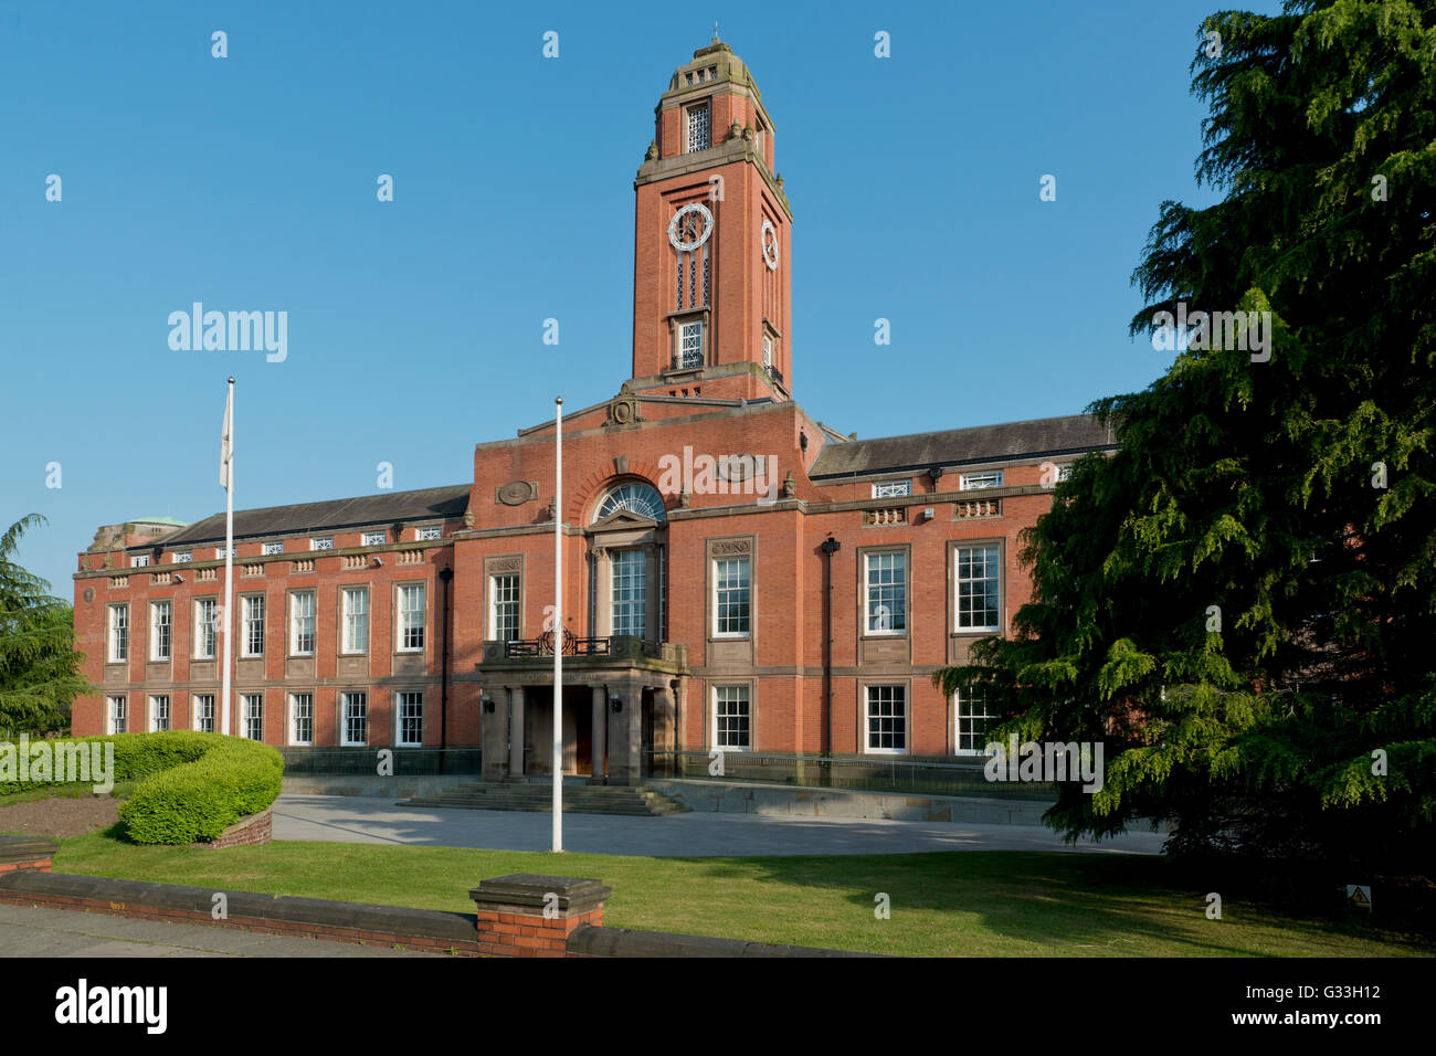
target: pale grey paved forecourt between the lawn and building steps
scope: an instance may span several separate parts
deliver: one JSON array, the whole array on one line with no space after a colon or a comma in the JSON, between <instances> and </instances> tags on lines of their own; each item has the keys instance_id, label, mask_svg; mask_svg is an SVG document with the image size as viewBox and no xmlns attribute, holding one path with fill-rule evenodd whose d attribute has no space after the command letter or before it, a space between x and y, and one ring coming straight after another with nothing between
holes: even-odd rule
<instances>
[{"instance_id":1,"label":"pale grey paved forecourt between the lawn and building steps","mask_svg":"<svg viewBox=\"0 0 1436 1056\"><path fill-rule=\"evenodd\" d=\"M547 851L550 815L398 806L392 797L284 793L274 839ZM563 816L566 851L708 858L750 855L905 855L922 851L1086 851L1157 853L1165 833L1129 832L1070 846L1045 828L694 812L666 818Z\"/></svg>"}]
</instances>

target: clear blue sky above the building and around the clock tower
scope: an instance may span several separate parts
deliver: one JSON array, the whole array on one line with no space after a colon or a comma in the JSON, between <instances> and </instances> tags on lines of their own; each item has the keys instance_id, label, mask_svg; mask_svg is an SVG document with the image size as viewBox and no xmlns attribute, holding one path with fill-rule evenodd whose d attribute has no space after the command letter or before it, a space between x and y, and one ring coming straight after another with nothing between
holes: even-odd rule
<instances>
[{"instance_id":1,"label":"clear blue sky above the building and around the clock tower","mask_svg":"<svg viewBox=\"0 0 1436 1056\"><path fill-rule=\"evenodd\" d=\"M0 0L0 520L50 520L20 560L70 596L98 524L223 510L230 374L241 509L373 493L381 461L462 483L556 394L612 395L633 174L714 17L775 122L814 417L1071 414L1170 361L1127 336L1129 276L1162 200L1211 201L1188 63L1221 4L679 7ZM289 358L171 351L195 300L289 312Z\"/></svg>"}]
</instances>

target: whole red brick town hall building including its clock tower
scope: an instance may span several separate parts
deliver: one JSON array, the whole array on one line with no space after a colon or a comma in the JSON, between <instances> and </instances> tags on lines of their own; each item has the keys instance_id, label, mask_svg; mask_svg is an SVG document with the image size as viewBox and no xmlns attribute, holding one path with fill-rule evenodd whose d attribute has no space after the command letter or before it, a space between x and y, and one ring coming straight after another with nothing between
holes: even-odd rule
<instances>
[{"instance_id":1,"label":"whole red brick town hall building including its clock tower","mask_svg":"<svg viewBox=\"0 0 1436 1056\"><path fill-rule=\"evenodd\" d=\"M231 727L277 746L481 746L488 777L632 784L659 753L943 757L982 701L931 672L1008 634L1018 533L1111 435L1074 415L859 441L794 401L793 213L752 75L722 43L656 108L638 171L632 372L487 441L471 483L234 514ZM76 734L217 728L224 516L101 529L75 619Z\"/></svg>"}]
</instances>

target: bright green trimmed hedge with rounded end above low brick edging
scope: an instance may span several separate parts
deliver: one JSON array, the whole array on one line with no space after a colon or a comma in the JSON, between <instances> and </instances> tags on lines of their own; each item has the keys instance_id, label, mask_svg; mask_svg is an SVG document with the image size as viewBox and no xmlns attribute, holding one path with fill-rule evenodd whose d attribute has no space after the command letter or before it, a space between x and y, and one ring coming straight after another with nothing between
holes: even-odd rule
<instances>
[{"instance_id":1,"label":"bright green trimmed hedge with rounded end above low brick edging","mask_svg":"<svg viewBox=\"0 0 1436 1056\"><path fill-rule=\"evenodd\" d=\"M115 746L113 779L136 782L119 807L126 835L136 843L213 840L244 815L269 807L284 773L277 749L218 733L172 730L63 740ZM0 795L47 784L6 782Z\"/></svg>"}]
</instances>

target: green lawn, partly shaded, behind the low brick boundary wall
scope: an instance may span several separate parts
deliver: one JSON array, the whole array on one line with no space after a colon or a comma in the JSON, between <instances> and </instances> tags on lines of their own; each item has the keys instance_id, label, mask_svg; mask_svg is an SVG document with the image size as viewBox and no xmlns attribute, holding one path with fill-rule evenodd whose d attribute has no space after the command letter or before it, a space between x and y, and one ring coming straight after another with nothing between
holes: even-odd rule
<instances>
[{"instance_id":1,"label":"green lawn, partly shaded, behind the low brick boundary wall","mask_svg":"<svg viewBox=\"0 0 1436 1056\"><path fill-rule=\"evenodd\" d=\"M596 876L605 924L918 955L1364 957L1436 945L1366 921L1298 920L1182 889L1155 856L951 852L807 858L561 856L370 843L207 851L113 833L62 843L56 872L472 912L468 888L510 872ZM873 897L890 895L890 920Z\"/></svg>"}]
</instances>

